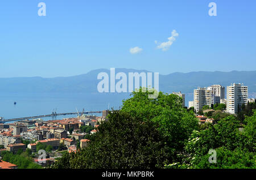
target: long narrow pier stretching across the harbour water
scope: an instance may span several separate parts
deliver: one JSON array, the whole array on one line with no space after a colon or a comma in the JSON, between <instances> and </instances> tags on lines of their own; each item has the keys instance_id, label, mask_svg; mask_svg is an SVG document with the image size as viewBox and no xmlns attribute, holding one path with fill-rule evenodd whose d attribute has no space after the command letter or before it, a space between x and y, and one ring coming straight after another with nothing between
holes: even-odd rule
<instances>
[{"instance_id":1,"label":"long narrow pier stretching across the harbour water","mask_svg":"<svg viewBox=\"0 0 256 180\"><path fill-rule=\"evenodd\" d=\"M83 114L92 114L92 113L102 113L101 111L98 112L83 112ZM81 114L81 113L53 113L53 114L45 114L45 115L36 115L31 117L24 117L24 118L14 118L14 119L2 119L2 123L9 122L9 121L19 121L24 119L36 119L36 118L44 118L44 117L55 117L58 115L72 115L72 114Z\"/></svg>"}]
</instances>

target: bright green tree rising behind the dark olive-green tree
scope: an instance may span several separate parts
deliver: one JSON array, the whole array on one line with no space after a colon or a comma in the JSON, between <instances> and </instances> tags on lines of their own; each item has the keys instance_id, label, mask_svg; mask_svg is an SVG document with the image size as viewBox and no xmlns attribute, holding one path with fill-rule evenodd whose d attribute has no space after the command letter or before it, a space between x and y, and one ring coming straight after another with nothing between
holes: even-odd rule
<instances>
[{"instance_id":1,"label":"bright green tree rising behind the dark olive-green tree","mask_svg":"<svg viewBox=\"0 0 256 180\"><path fill-rule=\"evenodd\" d=\"M158 98L148 98L148 92L133 92L133 97L123 101L121 111L144 121L152 121L164 137L168 138L174 156L183 151L184 142L193 130L198 129L198 119L182 107L182 98L159 92Z\"/></svg>"}]
</instances>

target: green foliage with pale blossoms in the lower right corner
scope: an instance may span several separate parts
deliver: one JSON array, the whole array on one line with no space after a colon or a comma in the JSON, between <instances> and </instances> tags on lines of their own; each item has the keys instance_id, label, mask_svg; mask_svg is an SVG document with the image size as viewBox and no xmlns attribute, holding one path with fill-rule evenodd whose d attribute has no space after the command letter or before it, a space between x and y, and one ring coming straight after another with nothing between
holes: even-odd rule
<instances>
[{"instance_id":1,"label":"green foliage with pale blossoms in the lower right corner","mask_svg":"<svg viewBox=\"0 0 256 180\"><path fill-rule=\"evenodd\" d=\"M246 118L247 125L230 115L205 130L193 131L180 161L167 168L256 168L256 112ZM209 150L217 152L217 163L209 163Z\"/></svg>"}]
</instances>

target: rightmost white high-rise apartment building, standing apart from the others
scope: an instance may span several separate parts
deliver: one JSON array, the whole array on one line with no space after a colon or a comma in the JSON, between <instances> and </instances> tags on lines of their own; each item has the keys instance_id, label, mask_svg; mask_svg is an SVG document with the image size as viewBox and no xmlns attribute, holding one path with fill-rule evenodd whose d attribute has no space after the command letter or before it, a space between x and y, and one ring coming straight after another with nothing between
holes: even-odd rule
<instances>
[{"instance_id":1,"label":"rightmost white high-rise apartment building, standing apart from the others","mask_svg":"<svg viewBox=\"0 0 256 180\"><path fill-rule=\"evenodd\" d=\"M247 86L234 83L226 87L226 111L231 114L238 113L242 104L247 104L247 98Z\"/></svg>"}]
</instances>

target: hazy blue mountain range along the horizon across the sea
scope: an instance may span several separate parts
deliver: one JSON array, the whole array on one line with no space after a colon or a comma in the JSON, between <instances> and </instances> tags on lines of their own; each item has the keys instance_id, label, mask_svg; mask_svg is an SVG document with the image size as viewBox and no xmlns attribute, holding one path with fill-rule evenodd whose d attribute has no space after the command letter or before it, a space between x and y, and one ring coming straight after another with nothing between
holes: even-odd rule
<instances>
[{"instance_id":1,"label":"hazy blue mountain range along the horizon across the sea","mask_svg":"<svg viewBox=\"0 0 256 180\"><path fill-rule=\"evenodd\" d=\"M0 92L89 92L97 93L97 75L110 70L98 69L87 74L57 77L57 78L0 78ZM134 70L116 68L117 72L149 72L146 70ZM118 80L116 80L118 82ZM256 92L256 71L231 71L231 72L175 72L168 75L159 75L159 89L164 92L181 91L192 93L197 87L206 87L212 84L221 84L225 87L231 83L243 83L249 87L249 93Z\"/></svg>"}]
</instances>

